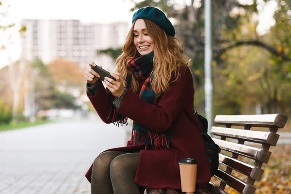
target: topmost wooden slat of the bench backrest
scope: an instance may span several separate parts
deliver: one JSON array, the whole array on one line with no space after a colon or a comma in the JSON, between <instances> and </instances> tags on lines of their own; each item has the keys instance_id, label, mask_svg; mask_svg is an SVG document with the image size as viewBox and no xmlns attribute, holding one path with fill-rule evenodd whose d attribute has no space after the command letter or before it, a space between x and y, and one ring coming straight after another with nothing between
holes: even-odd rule
<instances>
[{"instance_id":1,"label":"topmost wooden slat of the bench backrest","mask_svg":"<svg viewBox=\"0 0 291 194\"><path fill-rule=\"evenodd\" d=\"M217 115L214 122L218 124L251 125L253 127L283 128L288 117L283 114L257 114L257 115Z\"/></svg>"}]
</instances>

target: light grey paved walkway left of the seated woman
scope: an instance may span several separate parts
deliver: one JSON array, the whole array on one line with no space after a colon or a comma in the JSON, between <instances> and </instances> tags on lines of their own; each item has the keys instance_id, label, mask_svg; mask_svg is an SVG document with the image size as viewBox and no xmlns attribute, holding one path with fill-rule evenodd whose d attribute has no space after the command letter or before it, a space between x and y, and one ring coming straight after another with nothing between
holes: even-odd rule
<instances>
[{"instance_id":1,"label":"light grey paved walkway left of the seated woman","mask_svg":"<svg viewBox=\"0 0 291 194\"><path fill-rule=\"evenodd\" d=\"M126 131L73 121L0 132L0 194L90 194L84 174L101 151L125 145Z\"/></svg>"}]
</instances>

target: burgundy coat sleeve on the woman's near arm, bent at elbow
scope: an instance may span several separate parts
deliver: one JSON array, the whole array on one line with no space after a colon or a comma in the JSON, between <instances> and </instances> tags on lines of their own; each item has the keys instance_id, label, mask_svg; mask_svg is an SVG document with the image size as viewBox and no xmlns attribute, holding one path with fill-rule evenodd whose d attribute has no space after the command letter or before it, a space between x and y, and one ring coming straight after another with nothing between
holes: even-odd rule
<instances>
[{"instance_id":1,"label":"burgundy coat sleeve on the woman's near arm, bent at elbow","mask_svg":"<svg viewBox=\"0 0 291 194\"><path fill-rule=\"evenodd\" d=\"M162 132L173 124L187 104L193 104L191 99L193 99L194 87L190 69L181 68L178 80L172 82L170 87L171 90L162 95L157 105L149 105L129 90L117 112L153 132Z\"/></svg>"}]
</instances>

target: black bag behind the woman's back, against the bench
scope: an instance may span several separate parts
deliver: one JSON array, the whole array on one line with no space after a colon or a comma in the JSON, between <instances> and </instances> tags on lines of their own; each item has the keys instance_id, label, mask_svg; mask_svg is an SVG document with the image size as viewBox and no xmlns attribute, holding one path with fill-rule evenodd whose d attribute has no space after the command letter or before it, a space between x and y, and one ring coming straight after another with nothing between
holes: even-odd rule
<instances>
[{"instance_id":1,"label":"black bag behind the woman's back, against the bench","mask_svg":"<svg viewBox=\"0 0 291 194\"><path fill-rule=\"evenodd\" d=\"M208 129L207 119L201 116L200 114L198 114L197 111L194 110L194 108L193 108L193 112L196 118L198 119L200 127L201 127L202 138L204 140L207 157L210 163L211 177L213 177L218 169L218 164L219 164L218 162L219 146L216 145L214 141L212 140L212 138L207 134L207 129ZM190 118L191 117L189 117L189 119Z\"/></svg>"}]
</instances>

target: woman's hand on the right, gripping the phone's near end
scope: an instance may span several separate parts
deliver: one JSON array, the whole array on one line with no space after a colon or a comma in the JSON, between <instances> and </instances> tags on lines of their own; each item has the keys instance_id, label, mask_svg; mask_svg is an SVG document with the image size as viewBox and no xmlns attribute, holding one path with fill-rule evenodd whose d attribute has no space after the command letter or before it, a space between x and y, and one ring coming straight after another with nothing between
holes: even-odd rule
<instances>
[{"instance_id":1,"label":"woman's hand on the right, gripping the phone's near end","mask_svg":"<svg viewBox=\"0 0 291 194\"><path fill-rule=\"evenodd\" d=\"M114 81L111 78L105 77L104 82L106 83L107 88L111 91L111 93L115 97L120 97L122 95L122 93L124 92L124 86L123 86L123 83L120 79L120 74L119 73L111 73L111 75L113 76L113 78L116 79L116 81Z\"/></svg>"}]
</instances>

